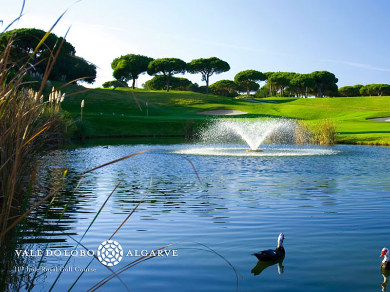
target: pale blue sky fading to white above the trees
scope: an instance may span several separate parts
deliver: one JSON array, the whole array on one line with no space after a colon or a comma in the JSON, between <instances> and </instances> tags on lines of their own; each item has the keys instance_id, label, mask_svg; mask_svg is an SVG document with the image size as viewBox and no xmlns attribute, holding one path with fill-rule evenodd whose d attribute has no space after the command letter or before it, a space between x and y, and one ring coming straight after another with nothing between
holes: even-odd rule
<instances>
[{"instance_id":1,"label":"pale blue sky fading to white above the trees","mask_svg":"<svg viewBox=\"0 0 390 292\"><path fill-rule=\"evenodd\" d=\"M92 87L113 80L120 55L218 57L231 70L311 73L327 70L339 87L390 84L389 0L26 0L10 29L48 30L66 37L76 55L98 66ZM0 0L1 31L20 14L22 0ZM73 5L72 5L73 4ZM200 74L184 75L205 85ZM151 79L140 75L137 86ZM85 85L85 84L84 84ZM89 86L91 87L91 86Z\"/></svg>"}]
</instances>

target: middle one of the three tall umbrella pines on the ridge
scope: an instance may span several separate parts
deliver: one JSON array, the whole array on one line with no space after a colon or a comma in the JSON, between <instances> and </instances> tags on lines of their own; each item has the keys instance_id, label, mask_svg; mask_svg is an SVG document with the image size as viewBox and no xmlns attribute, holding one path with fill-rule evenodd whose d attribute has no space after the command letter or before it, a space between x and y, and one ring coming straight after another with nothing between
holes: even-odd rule
<instances>
[{"instance_id":1,"label":"middle one of the three tall umbrella pines on the ridge","mask_svg":"<svg viewBox=\"0 0 390 292\"><path fill-rule=\"evenodd\" d=\"M161 73L164 76L166 83L166 91L169 91L169 82L171 76L177 73L184 73L187 63L178 58L162 58L156 59L149 63L148 74L158 75Z\"/></svg>"}]
</instances>

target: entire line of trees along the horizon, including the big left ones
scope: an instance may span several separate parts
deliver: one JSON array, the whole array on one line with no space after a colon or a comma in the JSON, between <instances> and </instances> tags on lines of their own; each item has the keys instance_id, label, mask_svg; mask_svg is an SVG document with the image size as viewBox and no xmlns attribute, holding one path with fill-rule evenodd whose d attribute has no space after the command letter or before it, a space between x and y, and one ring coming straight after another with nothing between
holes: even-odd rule
<instances>
[{"instance_id":1,"label":"entire line of trees along the horizon, including the big left ones","mask_svg":"<svg viewBox=\"0 0 390 292\"><path fill-rule=\"evenodd\" d=\"M76 55L75 47L50 33L40 46L35 50L39 40L46 35L45 31L34 28L12 30L1 34L0 52L4 51L11 36L15 36L12 46L14 50L9 56L13 62L15 73L26 56L33 55L36 65L28 70L24 81L40 80L45 73L50 56L58 54L57 60L51 70L49 79L67 82L84 81L93 83L96 79L96 66L90 64ZM61 43L59 52L56 52L56 44ZM52 49L51 49L52 48ZM54 48L54 49L53 49ZM209 84L213 74L219 74L230 70L230 65L217 57L194 59L189 63L178 58L153 59L143 55L122 55L111 63L115 80L108 81L103 87L128 87L127 82L133 80L132 87L140 74L148 73L154 76L145 82L143 86L150 90L178 90L194 91L200 93L214 93L235 97L243 92L247 96L254 92L257 98L268 96L296 96L296 97L324 97L324 96L375 96L390 95L388 84L368 84L344 86L338 89L338 79L328 71L314 71L300 74L294 72L265 72L245 70L237 73L234 80L220 80ZM11 70L12 71L12 70ZM179 73L201 74L205 85L199 86L187 78L175 77ZM12 72L11 72L12 73ZM12 78L10 75L9 78ZM260 88L259 82L266 84Z\"/></svg>"}]
</instances>

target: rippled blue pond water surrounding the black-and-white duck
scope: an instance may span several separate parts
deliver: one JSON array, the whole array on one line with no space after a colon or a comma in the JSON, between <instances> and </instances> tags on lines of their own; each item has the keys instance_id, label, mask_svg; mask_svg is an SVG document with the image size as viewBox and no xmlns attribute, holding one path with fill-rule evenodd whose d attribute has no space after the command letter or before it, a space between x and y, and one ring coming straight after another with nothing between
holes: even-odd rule
<instances>
[{"instance_id":1,"label":"rippled blue pond water surrounding the black-and-white duck","mask_svg":"<svg viewBox=\"0 0 390 292\"><path fill-rule=\"evenodd\" d=\"M31 227L23 248L44 249L47 243L37 241L48 240L49 249L74 248L74 241L49 223L56 222L80 174L122 156L158 148L89 173L59 228L79 239L120 182L82 240L96 250L142 199L152 177L145 201L113 237L126 252L176 241L205 244L242 275L239 291L381 291L379 255L382 247L390 247L390 148L266 146L264 152L242 156L244 150L237 148L243 146L215 146L228 149L214 149L219 153L214 156L210 147L205 152L199 147L111 145L52 152L44 159L41 174L52 188L58 184L53 178L68 167L65 192L56 199L46 230L37 238ZM193 162L202 183L183 157ZM286 237L284 273L278 273L277 265L261 274L252 272L257 259L251 254L276 247L281 232ZM191 242L173 248L177 257L147 260L121 274L121 279L132 292L235 291L234 271L219 256ZM59 267L66 259L45 257L42 265ZM134 259L123 257L113 268ZM74 257L68 265L84 268L89 260ZM36 265L35 259L26 262ZM96 259L89 268L97 271L83 274L72 291L86 291L110 274ZM39 274L33 291L48 291L57 275ZM54 291L67 291L78 275L63 273ZM99 291L115 289L125 291L117 279Z\"/></svg>"}]
</instances>

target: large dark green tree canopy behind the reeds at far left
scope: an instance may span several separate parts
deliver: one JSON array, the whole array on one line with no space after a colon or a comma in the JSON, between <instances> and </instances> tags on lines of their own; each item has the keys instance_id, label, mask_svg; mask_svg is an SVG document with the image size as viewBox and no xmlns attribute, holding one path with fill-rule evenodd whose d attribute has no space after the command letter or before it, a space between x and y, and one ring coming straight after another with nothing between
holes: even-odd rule
<instances>
[{"instance_id":1,"label":"large dark green tree canopy behind the reeds at far left","mask_svg":"<svg viewBox=\"0 0 390 292\"><path fill-rule=\"evenodd\" d=\"M36 65L35 70L43 74L47 66L47 59L63 40L62 37L57 37L55 34L50 33L34 54L35 49L45 34L45 31L35 28L21 28L5 32L0 35L0 51L4 50L10 38L14 36L10 60L18 64L32 56L32 64ZM76 56L75 47L64 41L49 79L72 81L78 78L82 78L80 80L87 83L95 82L96 66Z\"/></svg>"}]
</instances>

